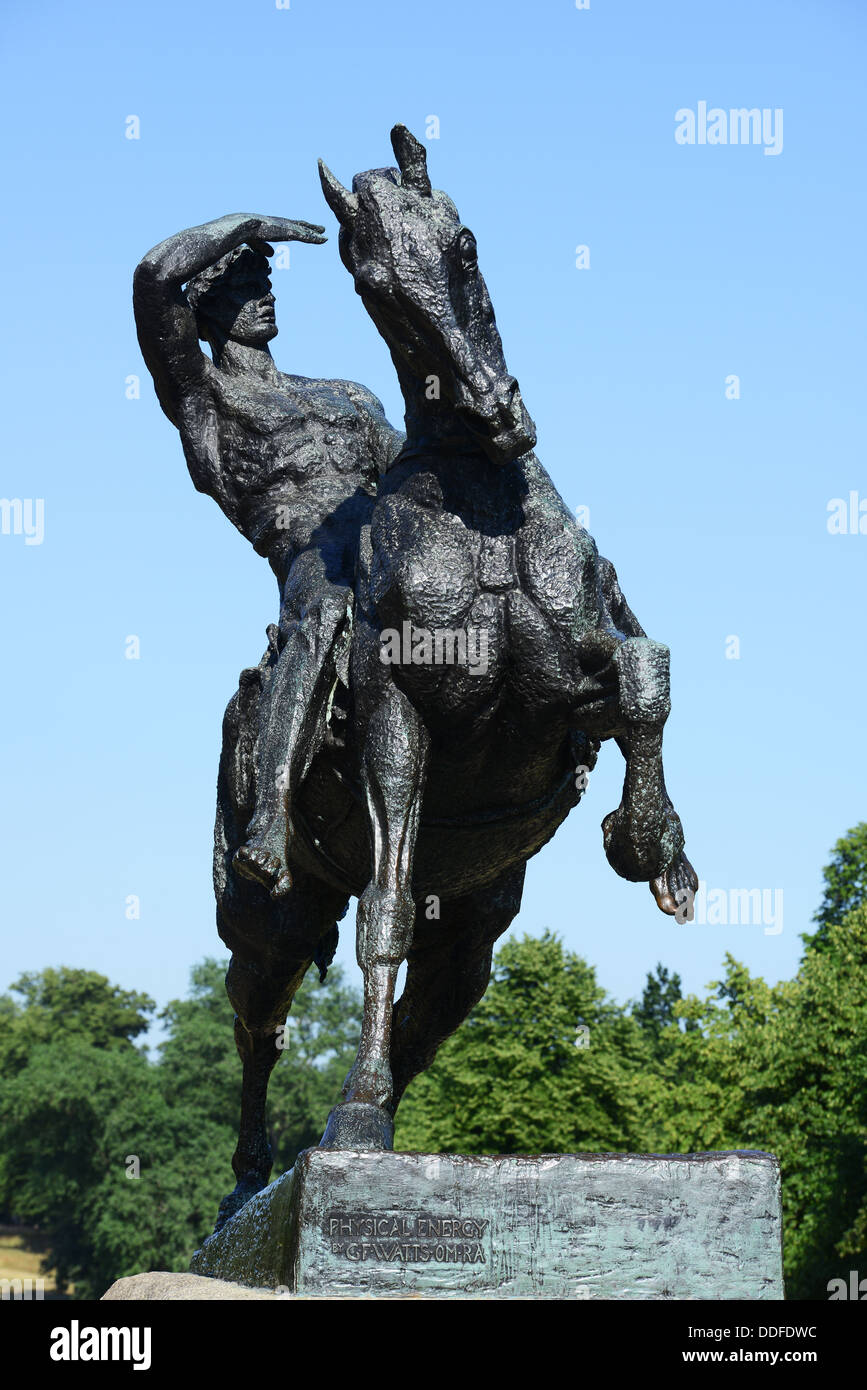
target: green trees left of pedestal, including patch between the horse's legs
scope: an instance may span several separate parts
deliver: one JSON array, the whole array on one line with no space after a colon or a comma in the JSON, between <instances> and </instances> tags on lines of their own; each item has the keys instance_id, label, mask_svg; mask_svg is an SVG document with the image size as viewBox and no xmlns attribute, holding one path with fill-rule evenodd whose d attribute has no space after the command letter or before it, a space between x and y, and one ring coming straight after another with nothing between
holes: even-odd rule
<instances>
[{"instance_id":1,"label":"green trees left of pedestal, including patch between the horse's legs","mask_svg":"<svg viewBox=\"0 0 867 1390\"><path fill-rule=\"evenodd\" d=\"M114 1279L186 1269L233 1186L240 1062L225 962L193 967L190 997L160 1015L151 1062L132 1038L146 995L88 972L25 976L0 1005L0 1207L50 1237L46 1264L76 1295ZM358 997L329 972L296 997L275 1068L276 1170L318 1143L354 1054Z\"/></svg>"}]
</instances>

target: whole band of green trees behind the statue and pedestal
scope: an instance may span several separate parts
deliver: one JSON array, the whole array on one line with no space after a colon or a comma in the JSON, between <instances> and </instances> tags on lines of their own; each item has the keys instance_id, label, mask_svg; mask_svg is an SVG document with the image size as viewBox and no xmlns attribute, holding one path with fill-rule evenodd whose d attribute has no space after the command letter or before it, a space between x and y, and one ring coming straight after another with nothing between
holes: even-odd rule
<instances>
[{"instance_id":1,"label":"whole band of green trees behind the statue and pedestal","mask_svg":"<svg viewBox=\"0 0 867 1390\"><path fill-rule=\"evenodd\" d=\"M867 1269L867 824L838 841L793 980L727 956L703 997L657 965L616 1004L552 933L507 941L488 992L410 1086L399 1148L496 1152L766 1150L779 1158L788 1294ZM154 1004L88 970L0 995L0 1211L50 1237L79 1297L185 1269L233 1184L240 1063L225 962ZM318 1143L361 1024L339 969L302 986L272 1081L275 1173Z\"/></svg>"}]
</instances>

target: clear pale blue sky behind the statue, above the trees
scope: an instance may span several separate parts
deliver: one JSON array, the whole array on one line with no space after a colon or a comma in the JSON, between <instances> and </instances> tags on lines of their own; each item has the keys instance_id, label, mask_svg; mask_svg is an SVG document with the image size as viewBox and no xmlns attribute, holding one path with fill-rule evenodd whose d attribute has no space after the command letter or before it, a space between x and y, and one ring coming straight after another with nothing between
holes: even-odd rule
<instances>
[{"instance_id":1,"label":"clear pale blue sky behind the statue, above the trees","mask_svg":"<svg viewBox=\"0 0 867 1390\"><path fill-rule=\"evenodd\" d=\"M44 539L0 535L0 988L67 963L164 1004L222 954L220 723L276 588L192 486L133 268L228 211L325 222L327 246L275 271L276 363L361 381L400 423L315 160L349 182L392 163L395 121L422 136L429 115L538 453L671 646L688 852L710 888L784 892L774 934L663 917L602 851L609 746L513 931L557 930L621 999L657 960L689 990L725 951L793 973L828 849L867 817L867 535L827 528L829 499L867 500L864 39L857 0L7 0L0 493L44 499ZM678 145L699 101L781 108L781 153ZM339 959L357 979L350 919Z\"/></svg>"}]
</instances>

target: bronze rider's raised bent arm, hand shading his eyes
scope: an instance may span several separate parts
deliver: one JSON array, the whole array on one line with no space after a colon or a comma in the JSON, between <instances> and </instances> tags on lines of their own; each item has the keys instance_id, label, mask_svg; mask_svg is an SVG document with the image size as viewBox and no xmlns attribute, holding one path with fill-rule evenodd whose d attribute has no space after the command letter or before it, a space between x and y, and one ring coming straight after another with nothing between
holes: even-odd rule
<instances>
[{"instance_id":1,"label":"bronze rider's raised bent arm, hand shading his eyes","mask_svg":"<svg viewBox=\"0 0 867 1390\"><path fill-rule=\"evenodd\" d=\"M181 400L210 368L182 286L243 242L270 253L268 240L321 243L321 227L286 217L229 213L168 236L142 259L132 288L136 329L160 404L174 425Z\"/></svg>"}]
</instances>

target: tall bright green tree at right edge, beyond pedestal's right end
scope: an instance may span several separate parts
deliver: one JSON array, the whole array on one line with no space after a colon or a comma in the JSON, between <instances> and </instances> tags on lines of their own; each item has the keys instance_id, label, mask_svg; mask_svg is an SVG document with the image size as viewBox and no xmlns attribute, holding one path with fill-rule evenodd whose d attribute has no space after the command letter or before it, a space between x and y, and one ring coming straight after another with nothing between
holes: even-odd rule
<instances>
[{"instance_id":1,"label":"tall bright green tree at right edge, beyond pedestal's right end","mask_svg":"<svg viewBox=\"0 0 867 1390\"><path fill-rule=\"evenodd\" d=\"M675 1009L656 1120L672 1151L759 1148L782 1170L788 1297L867 1268L867 905L829 923L795 980L727 956L706 999Z\"/></svg>"}]
</instances>

